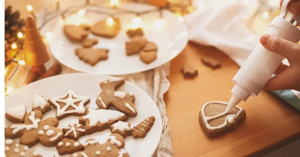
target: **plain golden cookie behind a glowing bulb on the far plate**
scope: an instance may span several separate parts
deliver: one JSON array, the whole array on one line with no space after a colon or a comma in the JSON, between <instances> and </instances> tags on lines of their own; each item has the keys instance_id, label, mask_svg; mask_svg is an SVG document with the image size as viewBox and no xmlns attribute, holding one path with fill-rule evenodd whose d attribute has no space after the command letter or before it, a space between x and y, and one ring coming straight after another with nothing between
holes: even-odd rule
<instances>
[{"instance_id":1,"label":"plain golden cookie behind a glowing bulb on the far plate","mask_svg":"<svg viewBox=\"0 0 300 157\"><path fill-rule=\"evenodd\" d=\"M121 22L118 18L113 19L113 25L107 25L106 19L95 23L90 31L98 36L114 38L121 30Z\"/></svg>"}]
</instances>

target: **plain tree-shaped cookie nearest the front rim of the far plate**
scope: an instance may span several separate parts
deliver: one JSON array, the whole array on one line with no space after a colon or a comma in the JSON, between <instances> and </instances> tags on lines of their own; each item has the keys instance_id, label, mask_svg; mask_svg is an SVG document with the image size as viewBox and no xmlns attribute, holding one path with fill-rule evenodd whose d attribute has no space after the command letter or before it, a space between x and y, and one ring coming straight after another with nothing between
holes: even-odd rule
<instances>
[{"instance_id":1,"label":"plain tree-shaped cookie nearest the front rim of the far plate","mask_svg":"<svg viewBox=\"0 0 300 157\"><path fill-rule=\"evenodd\" d=\"M95 66L100 60L106 60L108 58L108 49L105 48L77 48L75 54L80 60L85 63Z\"/></svg>"}]
</instances>

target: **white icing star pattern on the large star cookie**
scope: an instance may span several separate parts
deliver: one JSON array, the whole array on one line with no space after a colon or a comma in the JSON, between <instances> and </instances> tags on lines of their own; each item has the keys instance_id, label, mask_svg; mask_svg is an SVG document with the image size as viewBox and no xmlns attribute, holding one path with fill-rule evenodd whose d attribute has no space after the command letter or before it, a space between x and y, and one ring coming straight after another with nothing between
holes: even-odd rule
<instances>
[{"instance_id":1,"label":"white icing star pattern on the large star cookie","mask_svg":"<svg viewBox=\"0 0 300 157\"><path fill-rule=\"evenodd\" d=\"M67 97L67 99L63 99L64 97ZM72 97L75 97L76 99L73 99ZM50 99L50 101L57 108L56 109L56 117L59 117L61 115L67 114L67 113L85 113L84 103L86 103L88 100L90 100L89 97L76 95L72 90L68 90L68 92L65 93L64 95ZM58 105L57 102L62 102L62 103L65 103L66 105L61 108L61 106ZM77 102L80 102L78 106L76 106L74 104ZM69 106L72 106L74 109L66 111L66 109Z\"/></svg>"}]
</instances>

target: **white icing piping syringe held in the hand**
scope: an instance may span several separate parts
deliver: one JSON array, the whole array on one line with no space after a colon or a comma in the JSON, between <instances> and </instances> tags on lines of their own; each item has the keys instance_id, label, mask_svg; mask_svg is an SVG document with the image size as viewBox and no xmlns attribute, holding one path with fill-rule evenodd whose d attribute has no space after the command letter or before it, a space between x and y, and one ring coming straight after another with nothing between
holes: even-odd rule
<instances>
[{"instance_id":1,"label":"white icing piping syringe held in the hand","mask_svg":"<svg viewBox=\"0 0 300 157\"><path fill-rule=\"evenodd\" d=\"M298 43L300 30L296 26L300 23L300 15L290 14L284 19L290 1L283 1L281 14L271 22L267 34ZM284 57L267 50L259 43L233 77L235 86L231 90L232 97L225 111L229 112L241 100L246 101L250 95L256 97L283 59Z\"/></svg>"}]
</instances>

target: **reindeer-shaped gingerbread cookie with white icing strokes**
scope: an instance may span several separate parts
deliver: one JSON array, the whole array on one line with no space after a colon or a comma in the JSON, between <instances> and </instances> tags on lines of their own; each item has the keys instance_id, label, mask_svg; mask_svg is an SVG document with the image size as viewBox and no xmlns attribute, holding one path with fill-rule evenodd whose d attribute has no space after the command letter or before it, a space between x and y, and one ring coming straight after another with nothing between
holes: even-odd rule
<instances>
[{"instance_id":1,"label":"reindeer-shaped gingerbread cookie with white icing strokes","mask_svg":"<svg viewBox=\"0 0 300 157\"><path fill-rule=\"evenodd\" d=\"M124 83L125 80L119 77L111 77L110 79L101 82L100 87L102 91L96 98L96 104L100 109L107 109L112 105L129 117L135 117L137 116L137 110L133 105L135 100L134 93L116 91L116 89Z\"/></svg>"}]
</instances>

